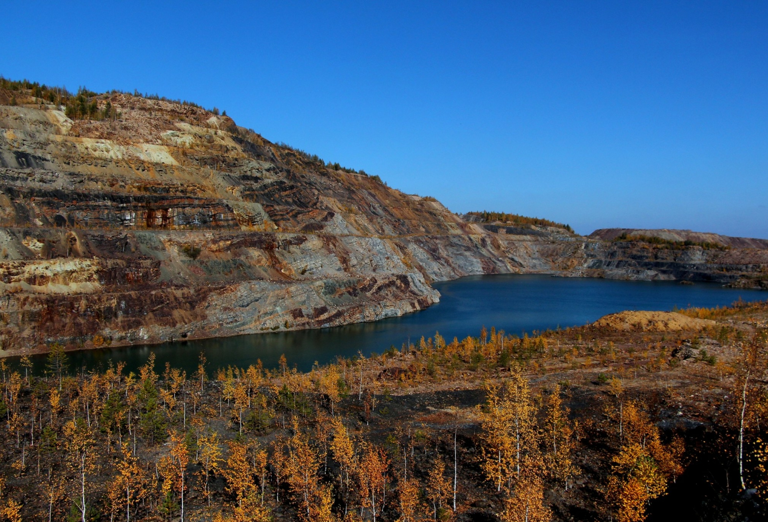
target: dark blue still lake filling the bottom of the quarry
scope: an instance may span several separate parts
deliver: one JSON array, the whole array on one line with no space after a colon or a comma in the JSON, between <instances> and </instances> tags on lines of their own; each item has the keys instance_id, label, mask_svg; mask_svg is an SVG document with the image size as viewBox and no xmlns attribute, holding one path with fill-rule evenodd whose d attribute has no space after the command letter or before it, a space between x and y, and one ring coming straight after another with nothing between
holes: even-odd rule
<instances>
[{"instance_id":1,"label":"dark blue still lake filling the bottom of the quarry","mask_svg":"<svg viewBox=\"0 0 768 522\"><path fill-rule=\"evenodd\" d=\"M621 310L671 310L674 306L723 306L737 299L768 299L760 290L727 289L713 283L680 285L670 281L614 281L609 279L561 278L532 275L468 276L436 282L440 302L421 312L377 322L336 326L297 332L270 332L217 339L172 342L161 345L70 352L70 368L105 367L110 360L126 362L135 371L150 352L157 369L165 362L191 374L204 352L209 368L227 365L247 367L261 359L267 368L277 366L281 354L289 365L309 370L314 362L324 364L337 355L349 357L358 351L366 356L382 353L391 345L418 342L435 332L445 339L478 335L483 325L521 335L533 330L584 325ZM42 366L45 356L37 357Z\"/></svg>"}]
</instances>

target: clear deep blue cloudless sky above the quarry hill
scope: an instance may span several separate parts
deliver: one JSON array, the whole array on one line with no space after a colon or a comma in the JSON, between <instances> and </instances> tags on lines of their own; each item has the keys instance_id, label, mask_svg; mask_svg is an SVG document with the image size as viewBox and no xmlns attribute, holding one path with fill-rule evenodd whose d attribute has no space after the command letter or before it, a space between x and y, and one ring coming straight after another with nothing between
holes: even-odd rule
<instances>
[{"instance_id":1,"label":"clear deep blue cloudless sky above the quarry hill","mask_svg":"<svg viewBox=\"0 0 768 522\"><path fill-rule=\"evenodd\" d=\"M0 43L457 212L768 237L768 2L5 2Z\"/></svg>"}]
</instances>

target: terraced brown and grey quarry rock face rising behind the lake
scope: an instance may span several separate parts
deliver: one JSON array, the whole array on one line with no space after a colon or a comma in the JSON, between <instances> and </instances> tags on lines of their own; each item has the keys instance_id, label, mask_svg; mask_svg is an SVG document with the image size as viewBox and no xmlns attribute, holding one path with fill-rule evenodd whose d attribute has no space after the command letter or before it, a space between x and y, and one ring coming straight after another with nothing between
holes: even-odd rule
<instances>
[{"instance_id":1,"label":"terraced brown and grey quarry rock face rising behind the lake","mask_svg":"<svg viewBox=\"0 0 768 522\"><path fill-rule=\"evenodd\" d=\"M72 121L15 99L0 105L5 350L371 321L469 274L733 282L768 263L766 250L649 252L466 223L197 107L111 94L118 120Z\"/></svg>"}]
</instances>

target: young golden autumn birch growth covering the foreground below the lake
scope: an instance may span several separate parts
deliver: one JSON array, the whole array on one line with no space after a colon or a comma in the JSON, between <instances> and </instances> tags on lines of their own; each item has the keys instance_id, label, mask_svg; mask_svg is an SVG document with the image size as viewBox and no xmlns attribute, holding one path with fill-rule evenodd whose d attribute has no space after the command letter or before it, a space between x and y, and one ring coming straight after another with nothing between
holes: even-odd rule
<instances>
[{"instance_id":1,"label":"young golden autumn birch growth covering the foreground below the lake","mask_svg":"<svg viewBox=\"0 0 768 522\"><path fill-rule=\"evenodd\" d=\"M643 339L628 352L581 333L434 335L311 372L286 360L217 371L201 359L187 378L168 366L157 375L150 360L128 375L63 371L61 389L58 373L8 371L0 453L13 484L38 484L36 508L51 520L74 506L78 520L424 522L477 511L544 522L588 491L596 520L639 522L683 473L681 440L649 412L685 397L659 388L651 404L634 375L651 382L685 341L664 352ZM732 431L746 402L745 480L768 494L762 374L751 370L743 401L738 364L726 375L686 364L733 395L717 402ZM737 439L723 446L733 458ZM12 490L0 508L20 498Z\"/></svg>"}]
</instances>

